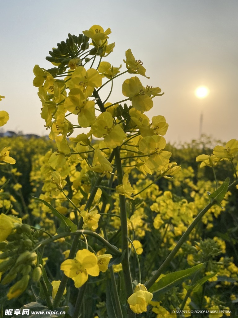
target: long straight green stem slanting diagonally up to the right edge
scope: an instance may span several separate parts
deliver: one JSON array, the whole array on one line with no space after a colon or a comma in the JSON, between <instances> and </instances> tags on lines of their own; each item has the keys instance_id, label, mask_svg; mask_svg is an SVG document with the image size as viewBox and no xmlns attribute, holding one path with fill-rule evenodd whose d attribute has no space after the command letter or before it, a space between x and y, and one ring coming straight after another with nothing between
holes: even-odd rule
<instances>
[{"instance_id":1,"label":"long straight green stem slanting diagonally up to the right edge","mask_svg":"<svg viewBox=\"0 0 238 318\"><path fill-rule=\"evenodd\" d=\"M229 191L233 186L238 184L238 180L234 181L228 186ZM196 218L193 220L193 222L188 226L187 230L183 233L182 237L179 239L178 243L174 247L174 249L170 252L168 257L165 259L163 264L160 266L160 268L155 272L155 274L145 283L145 286L147 289L149 289L155 281L159 278L160 274L162 274L163 270L170 264L171 260L175 257L176 253L182 246L182 244L187 240L188 235L192 232L194 227L198 224L198 222L201 220L203 215L214 205L216 204L216 201L209 202L205 208L200 211L200 213L196 216Z\"/></svg>"}]
</instances>

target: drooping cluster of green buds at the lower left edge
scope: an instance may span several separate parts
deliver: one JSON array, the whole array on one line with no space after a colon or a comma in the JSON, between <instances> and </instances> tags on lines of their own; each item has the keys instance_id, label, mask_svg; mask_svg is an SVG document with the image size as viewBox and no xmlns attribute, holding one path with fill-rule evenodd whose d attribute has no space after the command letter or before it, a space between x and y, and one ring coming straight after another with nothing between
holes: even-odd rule
<instances>
[{"instance_id":1,"label":"drooping cluster of green buds at the lower left edge","mask_svg":"<svg viewBox=\"0 0 238 318\"><path fill-rule=\"evenodd\" d=\"M19 291L26 289L30 277L34 282L40 280L42 265L37 265L37 254L32 250L42 233L20 223L15 226L15 232L7 237L7 241L0 242L0 284L7 285L17 279L10 288L9 299L17 297Z\"/></svg>"}]
</instances>

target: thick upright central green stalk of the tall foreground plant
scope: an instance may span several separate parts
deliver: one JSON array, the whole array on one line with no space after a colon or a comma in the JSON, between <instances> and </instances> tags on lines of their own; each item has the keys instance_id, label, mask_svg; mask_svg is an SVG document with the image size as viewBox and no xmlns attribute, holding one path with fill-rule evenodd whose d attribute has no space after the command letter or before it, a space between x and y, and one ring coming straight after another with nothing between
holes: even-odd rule
<instances>
[{"instance_id":1,"label":"thick upright central green stalk of the tall foreground plant","mask_svg":"<svg viewBox=\"0 0 238 318\"><path fill-rule=\"evenodd\" d=\"M123 171L122 171L122 163L120 157L120 150L118 147L114 149L115 154L115 162L116 162L116 170L118 176L118 185L122 184ZM125 281L125 288L127 298L133 294L133 286L131 281L130 274L130 264L129 264L129 248L128 248L128 230L127 230L127 213L126 213L126 198L125 196L119 195L120 202L120 215L121 215L121 232L122 232L122 251L126 251L125 256L122 260L122 271ZM135 314L128 307L128 318L135 317Z\"/></svg>"}]
</instances>

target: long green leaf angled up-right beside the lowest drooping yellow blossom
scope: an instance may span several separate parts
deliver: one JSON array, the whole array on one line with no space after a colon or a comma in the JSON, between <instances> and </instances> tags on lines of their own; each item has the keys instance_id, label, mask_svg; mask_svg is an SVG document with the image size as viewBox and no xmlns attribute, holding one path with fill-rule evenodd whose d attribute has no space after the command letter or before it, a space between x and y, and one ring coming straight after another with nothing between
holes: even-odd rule
<instances>
[{"instance_id":1,"label":"long green leaf angled up-right beside the lowest drooping yellow blossom","mask_svg":"<svg viewBox=\"0 0 238 318\"><path fill-rule=\"evenodd\" d=\"M154 283L149 292L153 293L153 301L160 301L160 294L164 294L170 288L180 284L189 276L199 271L203 267L203 264L198 264L191 268L184 269L182 271L173 272L162 277L158 282Z\"/></svg>"}]
</instances>

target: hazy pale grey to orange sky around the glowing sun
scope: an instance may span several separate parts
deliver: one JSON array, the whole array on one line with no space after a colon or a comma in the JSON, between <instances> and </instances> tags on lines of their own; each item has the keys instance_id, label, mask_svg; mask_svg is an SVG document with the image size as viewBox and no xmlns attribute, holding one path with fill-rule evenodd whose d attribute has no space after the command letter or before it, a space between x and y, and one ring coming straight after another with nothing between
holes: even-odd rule
<instances>
[{"instance_id":1,"label":"hazy pale grey to orange sky around the glowing sun","mask_svg":"<svg viewBox=\"0 0 238 318\"><path fill-rule=\"evenodd\" d=\"M224 141L238 138L237 0L0 0L0 7L0 94L5 95L0 110L10 114L5 130L47 134L32 69L52 67L45 56L68 33L99 24L111 28L109 43L116 42L108 61L125 69L130 48L150 76L139 76L142 84L165 92L145 114L165 116L167 141L198 138L201 112L203 133ZM110 102L125 98L121 85L128 77L117 79ZM194 94L201 85L210 91L203 100Z\"/></svg>"}]
</instances>

